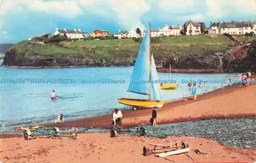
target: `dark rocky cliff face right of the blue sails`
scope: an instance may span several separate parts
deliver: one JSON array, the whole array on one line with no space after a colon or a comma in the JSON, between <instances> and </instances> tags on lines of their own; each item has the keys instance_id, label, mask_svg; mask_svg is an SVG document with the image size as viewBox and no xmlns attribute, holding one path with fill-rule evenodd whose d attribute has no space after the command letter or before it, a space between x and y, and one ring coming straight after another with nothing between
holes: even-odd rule
<instances>
[{"instance_id":1,"label":"dark rocky cliff face right of the blue sails","mask_svg":"<svg viewBox=\"0 0 256 163\"><path fill-rule=\"evenodd\" d=\"M247 44L230 46L224 51L208 52L184 58L172 57L162 58L162 64L172 69L216 69L218 73L244 73L247 71L256 72L256 41ZM162 72L165 72L162 70Z\"/></svg>"}]
</instances>

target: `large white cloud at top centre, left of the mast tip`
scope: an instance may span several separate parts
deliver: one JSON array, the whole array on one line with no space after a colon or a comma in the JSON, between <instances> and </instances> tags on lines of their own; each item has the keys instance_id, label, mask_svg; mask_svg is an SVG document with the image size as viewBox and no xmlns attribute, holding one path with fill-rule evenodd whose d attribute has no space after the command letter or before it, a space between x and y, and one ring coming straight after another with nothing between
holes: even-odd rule
<instances>
[{"instance_id":1,"label":"large white cloud at top centre, left of the mast tip","mask_svg":"<svg viewBox=\"0 0 256 163\"><path fill-rule=\"evenodd\" d=\"M144 0L80 0L79 2L84 10L100 15L102 18L112 19L122 28L143 28L140 18L151 9Z\"/></svg>"}]
</instances>

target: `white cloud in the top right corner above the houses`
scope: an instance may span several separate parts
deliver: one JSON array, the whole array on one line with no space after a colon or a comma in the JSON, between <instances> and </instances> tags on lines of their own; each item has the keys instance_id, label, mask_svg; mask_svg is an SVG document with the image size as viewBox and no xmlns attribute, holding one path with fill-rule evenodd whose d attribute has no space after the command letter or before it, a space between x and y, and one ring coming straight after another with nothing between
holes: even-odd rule
<instances>
[{"instance_id":1,"label":"white cloud in the top right corner above the houses","mask_svg":"<svg viewBox=\"0 0 256 163\"><path fill-rule=\"evenodd\" d=\"M256 14L255 0L206 0L207 17L221 18L225 16L254 15Z\"/></svg>"}]
</instances>

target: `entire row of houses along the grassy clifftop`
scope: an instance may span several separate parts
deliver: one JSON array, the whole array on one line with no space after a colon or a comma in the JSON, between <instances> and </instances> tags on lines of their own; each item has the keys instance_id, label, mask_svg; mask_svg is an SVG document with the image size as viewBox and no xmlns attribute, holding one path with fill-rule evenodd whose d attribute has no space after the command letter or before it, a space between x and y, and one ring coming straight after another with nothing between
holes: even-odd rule
<instances>
[{"instance_id":1,"label":"entire row of houses along the grassy clifftop","mask_svg":"<svg viewBox=\"0 0 256 163\"><path fill-rule=\"evenodd\" d=\"M180 25L164 25L163 28L157 28L151 30L152 37L161 37L161 36L178 36L178 35L199 35L199 34L224 34L228 33L231 35L244 35L246 33L254 32L256 33L256 23L255 21L235 21L231 22L210 22L210 28L201 30L202 22L196 22L188 20L184 23L183 26ZM81 32L80 29L74 30L59 30L55 29L54 35L67 36L70 39L83 39L88 37L107 37L110 36L109 31L96 29L92 31L92 34L88 32ZM145 29L141 31L140 34L134 29L130 31L119 30L118 33L114 34L114 37L118 39L122 38L138 38L144 37Z\"/></svg>"}]
</instances>

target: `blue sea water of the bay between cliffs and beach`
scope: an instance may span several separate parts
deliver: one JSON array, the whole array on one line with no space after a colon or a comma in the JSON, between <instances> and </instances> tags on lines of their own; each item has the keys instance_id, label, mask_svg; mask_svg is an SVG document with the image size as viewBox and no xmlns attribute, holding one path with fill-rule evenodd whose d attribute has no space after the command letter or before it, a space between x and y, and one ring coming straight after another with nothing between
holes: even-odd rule
<instances>
[{"instance_id":1,"label":"blue sea water of the bay between cliffs and beach","mask_svg":"<svg viewBox=\"0 0 256 163\"><path fill-rule=\"evenodd\" d=\"M14 131L17 126L53 123L60 113L67 121L110 113L116 107L129 109L117 99L147 98L126 92L132 71L133 67L0 67L0 132ZM158 73L158 77L168 80L165 73ZM179 87L162 90L164 101L182 98L184 92L189 95L187 80L226 82L203 85L197 89L197 94L203 94L228 85L229 78L239 79L240 74L173 73L171 78ZM58 96L56 101L50 98L52 90Z\"/></svg>"}]
</instances>

